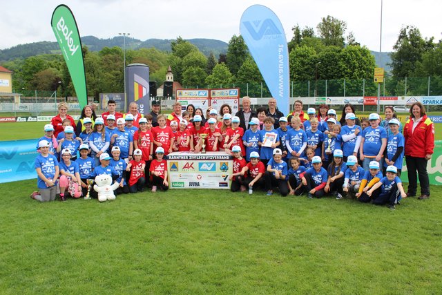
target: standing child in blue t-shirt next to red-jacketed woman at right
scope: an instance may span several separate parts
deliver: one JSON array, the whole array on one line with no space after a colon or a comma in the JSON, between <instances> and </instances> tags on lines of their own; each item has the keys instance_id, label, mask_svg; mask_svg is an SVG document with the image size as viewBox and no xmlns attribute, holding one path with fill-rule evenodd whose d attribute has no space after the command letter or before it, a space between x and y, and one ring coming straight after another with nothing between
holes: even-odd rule
<instances>
[{"instance_id":1,"label":"standing child in blue t-shirt next to red-jacketed woman at right","mask_svg":"<svg viewBox=\"0 0 442 295\"><path fill-rule=\"evenodd\" d=\"M390 125L391 133L388 136L387 149L385 149L384 170L387 169L387 166L396 166L398 176L401 176L405 137L399 132L399 127L401 126L399 120L392 119L388 124Z\"/></svg>"}]
</instances>

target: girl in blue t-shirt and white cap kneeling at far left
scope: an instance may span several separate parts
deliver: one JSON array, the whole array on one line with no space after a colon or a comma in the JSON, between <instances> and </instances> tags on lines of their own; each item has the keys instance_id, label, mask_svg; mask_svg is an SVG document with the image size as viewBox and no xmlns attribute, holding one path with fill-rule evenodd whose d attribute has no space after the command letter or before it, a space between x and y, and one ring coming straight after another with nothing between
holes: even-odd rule
<instances>
[{"instance_id":1,"label":"girl in blue t-shirt and white cap kneeling at far left","mask_svg":"<svg viewBox=\"0 0 442 295\"><path fill-rule=\"evenodd\" d=\"M35 158L35 171L37 172L37 187L39 195L33 195L35 200L49 202L57 196L57 178L59 175L59 164L55 155L49 153L49 142L39 141L39 155Z\"/></svg>"}]
</instances>

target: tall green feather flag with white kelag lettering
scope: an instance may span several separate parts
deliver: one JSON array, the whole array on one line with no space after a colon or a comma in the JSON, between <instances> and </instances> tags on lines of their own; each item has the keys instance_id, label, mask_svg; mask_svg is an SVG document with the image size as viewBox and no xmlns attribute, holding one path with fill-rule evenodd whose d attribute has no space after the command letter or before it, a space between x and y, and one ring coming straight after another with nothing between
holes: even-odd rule
<instances>
[{"instance_id":1,"label":"tall green feather flag with white kelag lettering","mask_svg":"<svg viewBox=\"0 0 442 295\"><path fill-rule=\"evenodd\" d=\"M78 102L82 109L88 104L88 94L86 91L86 75L77 22L68 6L61 4L52 13L50 25L68 66L70 78L74 84L75 93L77 93Z\"/></svg>"}]
</instances>

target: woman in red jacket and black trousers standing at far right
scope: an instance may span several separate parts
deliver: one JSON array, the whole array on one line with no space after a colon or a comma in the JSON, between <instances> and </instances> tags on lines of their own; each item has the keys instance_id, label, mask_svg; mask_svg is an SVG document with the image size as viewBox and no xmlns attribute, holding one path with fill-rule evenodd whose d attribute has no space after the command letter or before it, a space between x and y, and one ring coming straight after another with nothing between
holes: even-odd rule
<instances>
[{"instance_id":1,"label":"woman in red jacket and black trousers standing at far right","mask_svg":"<svg viewBox=\"0 0 442 295\"><path fill-rule=\"evenodd\" d=\"M414 102L410 108L410 119L403 128L405 137L405 162L408 171L407 196L416 196L417 173L421 184L419 200L430 198L430 180L427 173L427 162L431 160L434 150L434 124L425 114L425 107Z\"/></svg>"}]
</instances>

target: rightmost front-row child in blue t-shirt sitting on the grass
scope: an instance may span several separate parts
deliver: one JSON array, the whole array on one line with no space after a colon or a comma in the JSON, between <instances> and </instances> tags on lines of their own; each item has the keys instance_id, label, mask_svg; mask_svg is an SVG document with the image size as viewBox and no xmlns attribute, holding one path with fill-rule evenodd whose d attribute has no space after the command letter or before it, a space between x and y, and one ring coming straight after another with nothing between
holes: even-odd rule
<instances>
[{"instance_id":1,"label":"rightmost front-row child in blue t-shirt sitting on the grass","mask_svg":"<svg viewBox=\"0 0 442 295\"><path fill-rule=\"evenodd\" d=\"M374 184L372 189L367 191L367 195L372 196L372 193L378 189L378 187L382 187L381 194L377 198L374 198L373 204L388 204L388 207L394 210L396 209L395 205L398 204L402 198L407 198L407 193L403 190L401 178L397 176L398 169L396 166L387 166L386 170L386 176Z\"/></svg>"}]
</instances>

